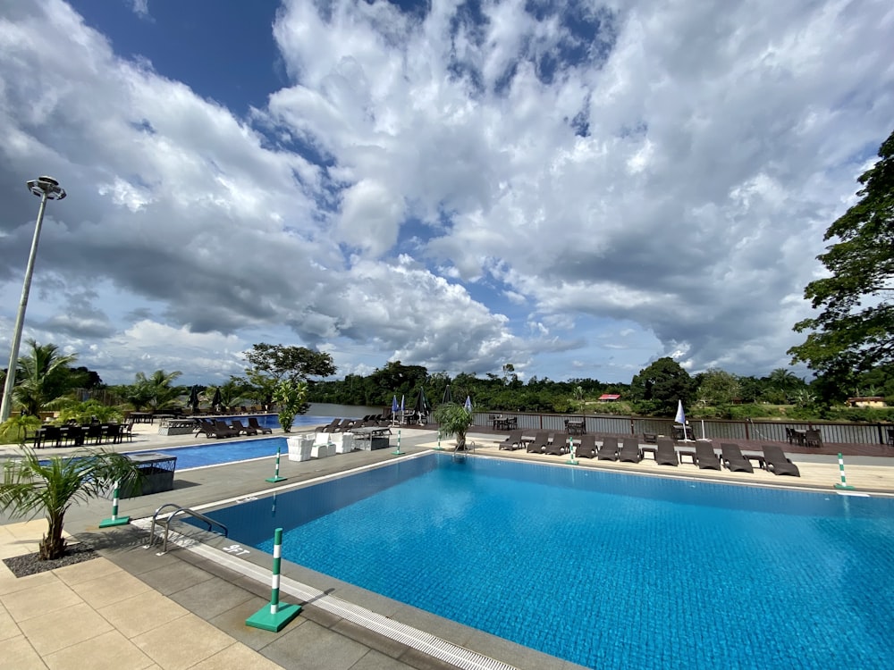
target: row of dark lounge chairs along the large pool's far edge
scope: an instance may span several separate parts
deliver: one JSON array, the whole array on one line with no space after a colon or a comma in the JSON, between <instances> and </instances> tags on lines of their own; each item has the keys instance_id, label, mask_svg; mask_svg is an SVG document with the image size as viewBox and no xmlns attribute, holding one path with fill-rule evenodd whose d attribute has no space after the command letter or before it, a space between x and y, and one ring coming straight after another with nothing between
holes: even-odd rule
<instances>
[{"instance_id":1,"label":"row of dark lounge chairs along the large pool's far edge","mask_svg":"<svg viewBox=\"0 0 894 670\"><path fill-rule=\"evenodd\" d=\"M499 448L526 449L529 454L549 454L561 456L569 454L569 440L575 440L568 433L554 433L549 431L535 431L532 437L524 435L522 430L510 432L509 437L499 444ZM720 456L714 451L711 442L696 440L696 453L693 463L701 470L727 470L733 473L755 472L749 457L742 454L742 449L733 442L721 442ZM785 455L778 445L763 445L763 456L751 456L773 474L789 474L795 477L801 476L797 465ZM686 452L691 455L691 452ZM654 447L655 462L658 465L679 465L680 455L670 438L659 437ZM643 460L644 449L637 437L618 438L606 435L597 443L595 435L582 435L575 440L575 456L583 458L595 458L601 461L618 461L620 463L639 463Z\"/></svg>"}]
</instances>

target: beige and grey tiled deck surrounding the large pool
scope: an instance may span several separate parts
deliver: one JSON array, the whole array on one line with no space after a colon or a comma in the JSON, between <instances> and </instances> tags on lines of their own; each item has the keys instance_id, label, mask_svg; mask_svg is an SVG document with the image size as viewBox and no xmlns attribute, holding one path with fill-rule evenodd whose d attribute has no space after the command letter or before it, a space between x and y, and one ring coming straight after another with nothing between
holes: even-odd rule
<instances>
[{"instance_id":1,"label":"beige and grey tiled deck surrounding the large pool","mask_svg":"<svg viewBox=\"0 0 894 670\"><path fill-rule=\"evenodd\" d=\"M121 449L143 450L190 443L190 436L159 436L151 424L137 426L135 439ZM532 456L499 451L496 436L470 435L477 453L510 458L536 458L564 463L567 456ZM502 436L501 436L502 439ZM393 444L393 439L392 439ZM434 447L431 431L403 429L401 450L419 453ZM53 453L55 449L47 449ZM64 450L60 450L64 451ZM5 453L13 453L5 449ZM399 456L392 449L354 452L301 463L283 457L277 487L291 487L321 476ZM3 452L0 452L3 453ZM707 477L723 482L752 482L768 486L801 486L831 490L840 481L835 456L790 454L801 470L800 478L700 471L693 465L677 468L654 461L606 464L580 459L585 467L607 467L637 473ZM177 473L173 491L122 500L120 514L133 521L152 515L160 505L176 502L200 507L209 502L241 498L274 488L272 459ZM848 458L848 484L859 492L894 495L894 458ZM16 579L0 564L0 658L4 667L16 668L448 668L506 667L573 668L560 659L544 656L493 635L384 599L350 584L316 574L298 565L283 566L283 602L301 602L299 616L281 632L264 632L245 620L270 600L268 577L258 581L252 570L212 560L214 549L144 549L148 535L139 523L99 529L109 516L108 500L72 507L65 528L73 540L88 542L101 557L78 565ZM21 522L0 517L0 557L36 550L46 524L42 519ZM252 565L247 564L250 567ZM269 568L267 569L268 572ZM254 570L257 572L257 568ZM309 585L319 599L293 597L290 580ZM323 595L325 594L325 595ZM332 602L346 602L388 617L397 626L407 624L446 642L448 649L471 649L475 654L453 663L449 654L435 657L414 641L380 634L356 617L340 616ZM525 615L527 616L527 615ZM362 617L361 617L362 618ZM373 626L375 629L375 626ZM494 659L491 662L489 659Z\"/></svg>"}]
</instances>

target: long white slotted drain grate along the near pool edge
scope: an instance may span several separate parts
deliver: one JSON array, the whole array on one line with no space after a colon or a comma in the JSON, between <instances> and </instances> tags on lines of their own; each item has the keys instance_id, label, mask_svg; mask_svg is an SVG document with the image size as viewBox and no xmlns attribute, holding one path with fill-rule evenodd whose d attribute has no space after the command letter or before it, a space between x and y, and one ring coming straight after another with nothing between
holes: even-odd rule
<instances>
[{"instance_id":1,"label":"long white slotted drain grate along the near pool edge","mask_svg":"<svg viewBox=\"0 0 894 670\"><path fill-rule=\"evenodd\" d=\"M148 532L148 518L138 519L133 525L139 526ZM258 582L270 582L270 571L262 567L247 563L218 549L213 549L194 538L171 531L168 542L187 549L199 556L209 558L218 565L229 567L236 572L257 580ZM408 624L390 619L387 616L376 614L366 607L359 607L347 600L330 596L325 591L315 589L307 584L302 584L290 577L282 577L280 590L284 591L302 602L313 602L314 607L324 609L326 612L346 619L353 624L358 624L367 630L378 633L390 640L401 642L412 649L422 651L431 657L439 658L464 670L518 670L515 666L498 661L495 658L484 656L477 651L460 647L458 644L443 640L430 632L420 631Z\"/></svg>"}]
</instances>

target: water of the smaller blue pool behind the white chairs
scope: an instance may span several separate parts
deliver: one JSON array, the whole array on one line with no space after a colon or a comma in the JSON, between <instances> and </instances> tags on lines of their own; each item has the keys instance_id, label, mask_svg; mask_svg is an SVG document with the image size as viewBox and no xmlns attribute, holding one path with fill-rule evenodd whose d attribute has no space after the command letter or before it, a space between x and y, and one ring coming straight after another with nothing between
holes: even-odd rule
<instances>
[{"instance_id":1,"label":"water of the smaller blue pool behind the white chairs","mask_svg":"<svg viewBox=\"0 0 894 670\"><path fill-rule=\"evenodd\" d=\"M265 427L279 426L276 422L275 415L268 415L273 419L273 423L265 423L260 421ZM241 419L240 416L235 417ZM331 417L327 416L296 416L295 423L292 424L292 430L298 431L302 427L314 426L329 423ZM242 420L242 423L247 423ZM221 465L223 463L235 463L236 461L245 461L250 458L262 458L264 456L275 456L276 448L280 448L282 453L288 452L289 448L283 437L266 437L257 440L215 440L208 439L207 444L193 445L190 447L172 447L167 449L149 449L147 451L131 451L130 454L167 454L177 456L177 470L186 470L190 467L206 467L207 465Z\"/></svg>"}]
</instances>

